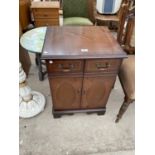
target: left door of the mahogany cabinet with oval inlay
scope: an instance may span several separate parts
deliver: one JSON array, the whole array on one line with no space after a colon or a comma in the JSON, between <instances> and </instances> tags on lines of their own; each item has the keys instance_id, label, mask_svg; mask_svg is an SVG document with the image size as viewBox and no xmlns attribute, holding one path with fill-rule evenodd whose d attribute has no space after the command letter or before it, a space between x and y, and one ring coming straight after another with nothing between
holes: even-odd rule
<instances>
[{"instance_id":1,"label":"left door of the mahogany cabinet with oval inlay","mask_svg":"<svg viewBox=\"0 0 155 155\"><path fill-rule=\"evenodd\" d=\"M82 77L49 78L54 110L80 109Z\"/></svg>"}]
</instances>

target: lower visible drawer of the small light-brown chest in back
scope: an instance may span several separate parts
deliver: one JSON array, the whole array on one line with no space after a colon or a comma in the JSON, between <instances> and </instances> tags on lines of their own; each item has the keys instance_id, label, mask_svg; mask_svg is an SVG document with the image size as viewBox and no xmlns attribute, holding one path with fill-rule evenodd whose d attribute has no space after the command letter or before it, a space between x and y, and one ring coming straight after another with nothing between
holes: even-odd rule
<instances>
[{"instance_id":1,"label":"lower visible drawer of the small light-brown chest in back","mask_svg":"<svg viewBox=\"0 0 155 155\"><path fill-rule=\"evenodd\" d=\"M35 26L53 26L59 25L58 19L37 19L35 20Z\"/></svg>"}]
</instances>

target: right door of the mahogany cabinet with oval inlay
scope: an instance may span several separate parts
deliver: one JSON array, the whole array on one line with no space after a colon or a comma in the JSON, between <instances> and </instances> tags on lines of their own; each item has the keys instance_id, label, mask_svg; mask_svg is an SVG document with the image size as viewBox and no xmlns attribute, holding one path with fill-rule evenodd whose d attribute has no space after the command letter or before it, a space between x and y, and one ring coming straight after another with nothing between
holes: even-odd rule
<instances>
[{"instance_id":1,"label":"right door of the mahogany cabinet with oval inlay","mask_svg":"<svg viewBox=\"0 0 155 155\"><path fill-rule=\"evenodd\" d=\"M82 90L82 109L104 108L115 76L85 77Z\"/></svg>"}]
</instances>

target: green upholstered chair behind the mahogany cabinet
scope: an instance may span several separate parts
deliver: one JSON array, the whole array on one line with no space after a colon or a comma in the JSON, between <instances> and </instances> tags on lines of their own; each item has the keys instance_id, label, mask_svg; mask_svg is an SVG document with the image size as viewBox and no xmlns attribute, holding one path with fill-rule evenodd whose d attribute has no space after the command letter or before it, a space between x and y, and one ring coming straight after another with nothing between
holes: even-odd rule
<instances>
[{"instance_id":1,"label":"green upholstered chair behind the mahogany cabinet","mask_svg":"<svg viewBox=\"0 0 155 155\"><path fill-rule=\"evenodd\" d=\"M94 0L63 0L63 25L93 25Z\"/></svg>"}]
</instances>

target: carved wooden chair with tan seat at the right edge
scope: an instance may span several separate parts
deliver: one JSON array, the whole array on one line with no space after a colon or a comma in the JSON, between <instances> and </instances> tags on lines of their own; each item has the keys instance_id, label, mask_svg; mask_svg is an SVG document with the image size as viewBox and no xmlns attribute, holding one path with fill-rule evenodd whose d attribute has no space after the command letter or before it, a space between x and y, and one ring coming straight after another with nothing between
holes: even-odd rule
<instances>
[{"instance_id":1,"label":"carved wooden chair with tan seat at the right edge","mask_svg":"<svg viewBox=\"0 0 155 155\"><path fill-rule=\"evenodd\" d=\"M134 2L134 0L133 0ZM134 3L133 3L134 4ZM118 42L128 54L120 67L119 79L125 94L123 104L116 118L118 122L127 110L130 103L135 100L135 9L127 9L121 19L118 31Z\"/></svg>"}]
</instances>

